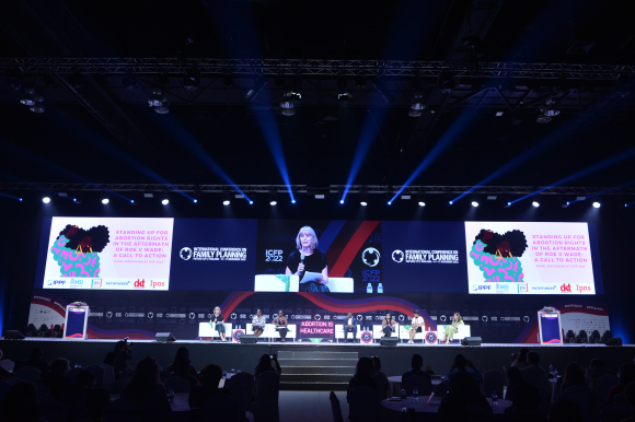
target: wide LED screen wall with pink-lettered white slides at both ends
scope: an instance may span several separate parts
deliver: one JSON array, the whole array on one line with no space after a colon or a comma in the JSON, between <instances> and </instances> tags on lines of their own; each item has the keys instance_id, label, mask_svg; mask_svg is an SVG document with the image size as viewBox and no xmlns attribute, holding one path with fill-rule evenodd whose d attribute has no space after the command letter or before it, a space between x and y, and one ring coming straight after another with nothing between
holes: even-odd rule
<instances>
[{"instance_id":1,"label":"wide LED screen wall with pink-lettered white slides at both ends","mask_svg":"<svg viewBox=\"0 0 635 422\"><path fill-rule=\"evenodd\" d=\"M308 271L327 279L296 274L307 226ZM590 223L48 216L35 288L593 295L597 237Z\"/></svg>"}]
</instances>

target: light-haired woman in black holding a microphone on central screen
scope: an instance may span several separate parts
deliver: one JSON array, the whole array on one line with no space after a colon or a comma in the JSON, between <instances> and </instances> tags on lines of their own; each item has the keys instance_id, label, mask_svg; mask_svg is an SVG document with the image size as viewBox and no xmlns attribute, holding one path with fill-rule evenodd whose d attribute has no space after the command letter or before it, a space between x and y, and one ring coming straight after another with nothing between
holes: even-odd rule
<instances>
[{"instance_id":1,"label":"light-haired woman in black holding a microphone on central screen","mask_svg":"<svg viewBox=\"0 0 635 422\"><path fill-rule=\"evenodd\" d=\"M326 254L318 249L315 231L308 225L296 237L297 250L287 259L287 274L300 277L300 292L330 292Z\"/></svg>"}]
</instances>

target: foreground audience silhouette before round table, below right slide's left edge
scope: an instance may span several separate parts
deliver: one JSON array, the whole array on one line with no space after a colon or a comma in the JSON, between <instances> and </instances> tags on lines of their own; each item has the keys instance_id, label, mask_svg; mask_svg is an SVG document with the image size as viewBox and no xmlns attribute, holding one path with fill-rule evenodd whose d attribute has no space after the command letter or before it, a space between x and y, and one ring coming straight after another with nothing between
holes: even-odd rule
<instances>
[{"instance_id":1,"label":"foreground audience silhouette before round table, below right slide's left edge","mask_svg":"<svg viewBox=\"0 0 635 422\"><path fill-rule=\"evenodd\" d=\"M465 367L459 363L458 371L453 374L448 395L441 399L439 415L441 421L462 421L473 417L475 409L492 413L492 407L478 391L478 383Z\"/></svg>"}]
</instances>

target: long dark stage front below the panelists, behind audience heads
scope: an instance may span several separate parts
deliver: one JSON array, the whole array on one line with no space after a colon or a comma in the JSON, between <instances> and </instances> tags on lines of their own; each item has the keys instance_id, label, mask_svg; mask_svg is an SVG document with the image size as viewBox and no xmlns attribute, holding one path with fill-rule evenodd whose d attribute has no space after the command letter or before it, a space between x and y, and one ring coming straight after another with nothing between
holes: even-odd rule
<instances>
[{"instance_id":1,"label":"long dark stage front below the panelists, behind audience heads","mask_svg":"<svg viewBox=\"0 0 635 422\"><path fill-rule=\"evenodd\" d=\"M44 350L44 359L46 361L66 357L70 361L71 366L74 366L76 363L86 366L101 363L106 353L113 351L115 341L106 339L85 341L46 338L2 339L0 340L0 349L4 352L5 359L16 361L27 359L31 350L38 347ZM221 343L220 341L203 340L182 340L170 343L160 343L151 340L131 340L130 342L132 344L132 360L129 361L129 365L132 367L147 355L155 357L160 365L166 367L172 362L176 350L185 347L189 350L193 365L199 370L205 364L215 363L228 372L231 368L236 368L251 373L263 354L277 354L280 356L282 374L285 374L286 364L281 357L298 356L302 353L309 353L307 355L311 356L322 354L327 360L335 360L334 356L339 354L347 357L348 365L354 364L354 357L379 356L382 362L382 371L389 376L407 371L414 353L422 354L424 356L424 365L429 365L437 375L443 374L450 368L458 353L462 353L467 360L484 371L503 371L504 366L509 367L510 354L518 354L521 347L538 351L541 355L541 365L545 368L554 365L561 374L564 373L565 366L569 362L578 362L582 367L586 367L591 359L594 357L602 359L609 370L616 372L621 364L632 363L635 355L635 347L633 344L605 347L603 344L483 343L480 347L462 347L459 344L423 345L420 343L400 343L396 347L382 347L379 343L310 343L308 341L286 343L262 341L256 344Z\"/></svg>"}]
</instances>

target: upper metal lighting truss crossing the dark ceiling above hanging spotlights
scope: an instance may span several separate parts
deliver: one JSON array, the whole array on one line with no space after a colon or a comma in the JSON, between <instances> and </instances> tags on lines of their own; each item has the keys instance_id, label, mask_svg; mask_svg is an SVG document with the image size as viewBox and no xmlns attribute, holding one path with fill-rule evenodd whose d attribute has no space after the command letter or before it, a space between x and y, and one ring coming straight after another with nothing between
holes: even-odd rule
<instances>
[{"instance_id":1,"label":"upper metal lighting truss crossing the dark ceiling above hanging spotlights","mask_svg":"<svg viewBox=\"0 0 635 422\"><path fill-rule=\"evenodd\" d=\"M213 59L213 58L0 58L0 67L25 73L183 74L196 67L201 74L226 77L451 77L617 80L635 77L635 65L515 63L470 61Z\"/></svg>"}]
</instances>

